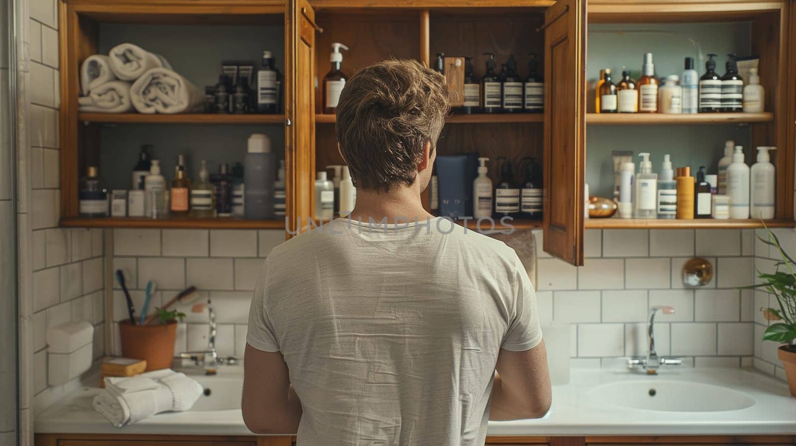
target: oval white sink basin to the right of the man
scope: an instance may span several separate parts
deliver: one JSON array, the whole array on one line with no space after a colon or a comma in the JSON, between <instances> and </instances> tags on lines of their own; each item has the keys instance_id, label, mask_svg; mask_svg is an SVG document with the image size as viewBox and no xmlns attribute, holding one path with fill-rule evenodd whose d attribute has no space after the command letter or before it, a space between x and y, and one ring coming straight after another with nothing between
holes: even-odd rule
<instances>
[{"instance_id":1,"label":"oval white sink basin to the right of the man","mask_svg":"<svg viewBox=\"0 0 796 446\"><path fill-rule=\"evenodd\" d=\"M610 382L591 390L591 398L632 409L712 412L745 409L755 400L728 387L684 381Z\"/></svg>"}]
</instances>

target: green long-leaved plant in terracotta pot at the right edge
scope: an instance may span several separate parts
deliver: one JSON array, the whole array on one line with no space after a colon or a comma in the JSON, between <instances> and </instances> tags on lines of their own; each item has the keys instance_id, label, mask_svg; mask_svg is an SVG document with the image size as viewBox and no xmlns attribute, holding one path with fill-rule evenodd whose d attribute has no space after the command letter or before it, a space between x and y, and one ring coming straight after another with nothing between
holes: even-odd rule
<instances>
[{"instance_id":1,"label":"green long-leaved plant in terracotta pot at the right edge","mask_svg":"<svg viewBox=\"0 0 796 446\"><path fill-rule=\"evenodd\" d=\"M768 239L760 236L758 239L769 246L775 246L782 260L775 264L777 270L774 273L757 270L757 277L761 283L743 288L765 288L777 299L778 308L760 308L763 317L772 323L763 332L763 340L782 343L777 351L777 357L785 367L790 394L796 397L796 270L794 270L796 262L785 250L782 250L777 236L766 229Z\"/></svg>"}]
</instances>

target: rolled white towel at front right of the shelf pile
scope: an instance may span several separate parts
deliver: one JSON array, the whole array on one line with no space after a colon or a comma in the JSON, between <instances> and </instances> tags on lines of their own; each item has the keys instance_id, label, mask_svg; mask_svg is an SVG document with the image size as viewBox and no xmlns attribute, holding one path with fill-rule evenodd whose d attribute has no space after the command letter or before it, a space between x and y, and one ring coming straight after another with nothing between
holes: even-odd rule
<instances>
[{"instance_id":1,"label":"rolled white towel at front right of the shelf pile","mask_svg":"<svg viewBox=\"0 0 796 446\"><path fill-rule=\"evenodd\" d=\"M152 68L133 83L130 99L139 113L192 113L205 107L205 91L166 68Z\"/></svg>"}]
</instances>

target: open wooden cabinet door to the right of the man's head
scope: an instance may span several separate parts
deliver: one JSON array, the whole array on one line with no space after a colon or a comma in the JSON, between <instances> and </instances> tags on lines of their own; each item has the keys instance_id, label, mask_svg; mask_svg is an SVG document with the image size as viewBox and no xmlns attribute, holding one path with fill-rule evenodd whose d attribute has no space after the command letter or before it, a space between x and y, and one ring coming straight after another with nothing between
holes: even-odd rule
<instances>
[{"instance_id":1,"label":"open wooden cabinet door to the right of the man's head","mask_svg":"<svg viewBox=\"0 0 796 446\"><path fill-rule=\"evenodd\" d=\"M544 250L583 265L586 0L544 14Z\"/></svg>"}]
</instances>

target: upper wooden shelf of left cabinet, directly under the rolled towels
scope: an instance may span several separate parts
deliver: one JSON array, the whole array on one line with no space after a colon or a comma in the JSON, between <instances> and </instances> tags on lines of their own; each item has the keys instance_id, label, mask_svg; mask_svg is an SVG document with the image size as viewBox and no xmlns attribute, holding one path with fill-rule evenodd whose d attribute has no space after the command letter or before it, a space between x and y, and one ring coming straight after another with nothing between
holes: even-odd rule
<instances>
[{"instance_id":1,"label":"upper wooden shelf of left cabinet, directly under the rolled towels","mask_svg":"<svg viewBox=\"0 0 796 446\"><path fill-rule=\"evenodd\" d=\"M142 114L142 113L79 113L82 122L116 124L277 124L284 125L284 114Z\"/></svg>"}]
</instances>

